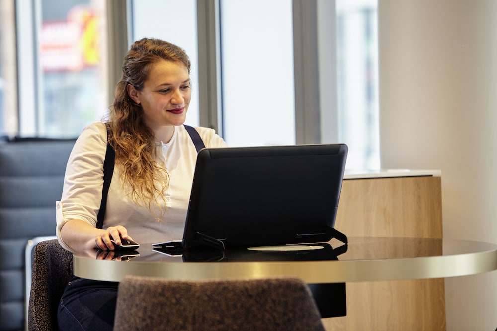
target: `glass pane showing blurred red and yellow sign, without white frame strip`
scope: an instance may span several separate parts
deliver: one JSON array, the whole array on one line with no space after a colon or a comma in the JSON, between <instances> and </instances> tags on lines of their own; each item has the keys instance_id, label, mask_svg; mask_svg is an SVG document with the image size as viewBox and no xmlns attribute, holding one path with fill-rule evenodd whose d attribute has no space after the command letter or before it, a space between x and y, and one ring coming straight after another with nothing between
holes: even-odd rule
<instances>
[{"instance_id":1,"label":"glass pane showing blurred red and yellow sign, without white frame strip","mask_svg":"<svg viewBox=\"0 0 497 331\"><path fill-rule=\"evenodd\" d=\"M108 109L104 0L42 0L37 135L74 137Z\"/></svg>"}]
</instances>

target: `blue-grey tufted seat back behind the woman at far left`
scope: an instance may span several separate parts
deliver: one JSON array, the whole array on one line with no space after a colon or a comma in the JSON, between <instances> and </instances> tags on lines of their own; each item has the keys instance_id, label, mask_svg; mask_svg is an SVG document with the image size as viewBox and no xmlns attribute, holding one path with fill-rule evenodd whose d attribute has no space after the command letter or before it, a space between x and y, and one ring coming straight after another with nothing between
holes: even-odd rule
<instances>
[{"instance_id":1,"label":"blue-grey tufted seat back behind the woman at far left","mask_svg":"<svg viewBox=\"0 0 497 331\"><path fill-rule=\"evenodd\" d=\"M0 331L24 329L24 249L28 239L55 235L74 140L0 142Z\"/></svg>"}]
</instances>

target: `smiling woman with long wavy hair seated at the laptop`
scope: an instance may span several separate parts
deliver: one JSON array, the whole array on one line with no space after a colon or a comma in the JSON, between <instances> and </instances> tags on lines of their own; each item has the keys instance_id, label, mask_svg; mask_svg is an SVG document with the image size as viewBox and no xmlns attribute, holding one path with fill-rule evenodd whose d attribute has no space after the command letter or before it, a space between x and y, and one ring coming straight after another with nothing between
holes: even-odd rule
<instances>
[{"instance_id":1,"label":"smiling woman with long wavy hair seated at the laptop","mask_svg":"<svg viewBox=\"0 0 497 331\"><path fill-rule=\"evenodd\" d=\"M191 99L190 61L158 39L136 41L123 64L109 120L87 126L69 157L57 208L57 237L71 251L114 250L182 238L197 151L183 127ZM108 127L108 132L107 132ZM206 147L226 143L196 128ZM107 139L115 150L103 228L96 227ZM74 277L59 307L60 330L112 330L117 283Z\"/></svg>"}]
</instances>

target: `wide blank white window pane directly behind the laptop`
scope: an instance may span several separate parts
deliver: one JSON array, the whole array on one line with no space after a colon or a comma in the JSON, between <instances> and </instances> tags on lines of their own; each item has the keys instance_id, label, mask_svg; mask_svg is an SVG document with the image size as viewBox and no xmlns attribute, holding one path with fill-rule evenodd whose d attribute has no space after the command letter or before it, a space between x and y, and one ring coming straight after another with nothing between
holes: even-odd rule
<instances>
[{"instance_id":1,"label":"wide blank white window pane directly behind the laptop","mask_svg":"<svg viewBox=\"0 0 497 331\"><path fill-rule=\"evenodd\" d=\"M291 0L221 0L224 138L295 143Z\"/></svg>"}]
</instances>

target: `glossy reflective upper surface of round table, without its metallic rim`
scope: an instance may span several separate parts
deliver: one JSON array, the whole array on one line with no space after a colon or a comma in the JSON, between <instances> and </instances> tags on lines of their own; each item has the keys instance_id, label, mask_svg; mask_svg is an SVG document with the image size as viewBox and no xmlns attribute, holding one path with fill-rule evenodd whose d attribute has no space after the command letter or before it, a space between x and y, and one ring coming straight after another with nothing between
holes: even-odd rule
<instances>
[{"instance_id":1,"label":"glossy reflective upper surface of round table, without its metallic rim","mask_svg":"<svg viewBox=\"0 0 497 331\"><path fill-rule=\"evenodd\" d=\"M230 249L226 251L173 251L142 244L136 251L112 252L88 250L75 256L105 260L158 261L158 262L235 262L235 261L320 261L320 260L384 260L410 259L430 256L495 251L497 245L451 239L400 238L400 237L350 237L348 244L331 240L328 243L287 245L298 250L277 250L283 246L255 249Z\"/></svg>"}]
</instances>

